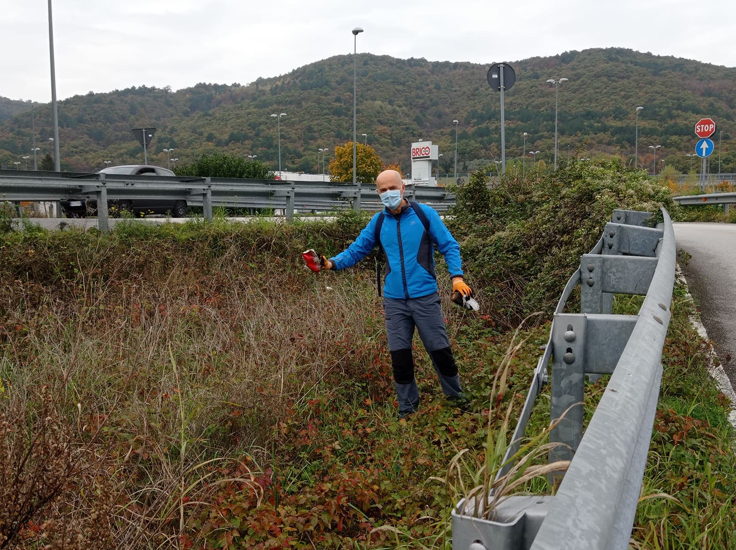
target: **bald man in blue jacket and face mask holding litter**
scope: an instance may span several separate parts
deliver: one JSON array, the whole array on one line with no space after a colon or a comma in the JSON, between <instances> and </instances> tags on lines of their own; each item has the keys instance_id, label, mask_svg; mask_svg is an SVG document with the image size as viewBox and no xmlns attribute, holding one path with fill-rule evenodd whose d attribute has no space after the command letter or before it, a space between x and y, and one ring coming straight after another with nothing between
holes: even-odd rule
<instances>
[{"instance_id":1,"label":"bald man in blue jacket and face mask holding litter","mask_svg":"<svg viewBox=\"0 0 736 550\"><path fill-rule=\"evenodd\" d=\"M349 268L380 246L386 260L383 283L383 311L386 336L399 401L399 418L419 408L419 390L414 378L411 340L416 328L447 399L467 406L458 368L450 349L445 317L440 308L434 270L434 246L445 257L453 291L470 297L460 260L460 246L445 227L439 214L426 204L404 199L406 185L401 174L386 170L375 180L376 191L386 207L373 216L355 242L329 260L325 269Z\"/></svg>"}]
</instances>

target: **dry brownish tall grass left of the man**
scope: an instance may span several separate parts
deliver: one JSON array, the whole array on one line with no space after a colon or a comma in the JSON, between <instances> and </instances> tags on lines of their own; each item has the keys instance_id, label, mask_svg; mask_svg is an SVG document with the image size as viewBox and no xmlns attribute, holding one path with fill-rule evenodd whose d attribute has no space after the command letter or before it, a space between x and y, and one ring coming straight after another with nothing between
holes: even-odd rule
<instances>
[{"instance_id":1,"label":"dry brownish tall grass left of the man","mask_svg":"<svg viewBox=\"0 0 736 550\"><path fill-rule=\"evenodd\" d=\"M8 257L3 490L43 496L0 514L0 548L167 545L223 484L258 501L285 415L383 352L359 274L305 271L298 240L212 241L41 235Z\"/></svg>"}]
</instances>

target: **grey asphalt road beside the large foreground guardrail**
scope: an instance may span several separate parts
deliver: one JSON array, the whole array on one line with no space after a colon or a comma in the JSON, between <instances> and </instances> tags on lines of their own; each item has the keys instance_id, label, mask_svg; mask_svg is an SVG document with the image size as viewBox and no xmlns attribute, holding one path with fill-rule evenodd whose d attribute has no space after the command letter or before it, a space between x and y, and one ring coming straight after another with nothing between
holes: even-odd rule
<instances>
[{"instance_id":1,"label":"grey asphalt road beside the large foreground guardrail","mask_svg":"<svg viewBox=\"0 0 736 550\"><path fill-rule=\"evenodd\" d=\"M736 387L736 224L673 224L679 262L723 370Z\"/></svg>"}]
</instances>

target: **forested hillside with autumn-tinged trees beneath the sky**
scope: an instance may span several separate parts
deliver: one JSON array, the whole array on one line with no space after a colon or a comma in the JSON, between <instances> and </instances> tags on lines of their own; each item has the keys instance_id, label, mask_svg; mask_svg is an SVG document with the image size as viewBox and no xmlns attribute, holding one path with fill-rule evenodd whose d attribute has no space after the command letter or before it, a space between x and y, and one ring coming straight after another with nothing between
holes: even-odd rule
<instances>
[{"instance_id":1,"label":"forested hillside with autumn-tinged trees beneath the sky","mask_svg":"<svg viewBox=\"0 0 736 550\"><path fill-rule=\"evenodd\" d=\"M400 162L408 170L409 144L422 138L439 143L441 169L452 172L455 119L459 171L474 161L500 159L499 94L486 82L491 63L372 54L358 54L357 63L358 140L367 139L384 162ZM714 136L717 148L722 140L721 171L736 171L736 68L628 49L570 51L510 63L517 78L505 94L509 161L523 153L523 132L528 133L526 151L540 151L537 160L552 160L555 90L545 81L567 78L559 86L561 157L613 154L633 162L635 108L642 106L640 164L651 166L648 146L661 145L657 162L687 171L693 158L686 154L695 152L693 127L701 116L711 116L723 131ZM13 107L19 103L22 107L19 101ZM316 172L318 149L333 151L352 139L353 57L330 57L250 85L201 83L177 92L141 85L60 101L61 165L87 171L104 167L105 160L142 162L130 129L155 126L149 162L166 165L163 149L173 148L180 162L216 149L257 155L275 166L277 128L270 116L275 112L286 112L280 121L283 169ZM37 104L34 114L43 155L53 135L50 105ZM4 167L29 154L31 128L29 110L0 123Z\"/></svg>"}]
</instances>

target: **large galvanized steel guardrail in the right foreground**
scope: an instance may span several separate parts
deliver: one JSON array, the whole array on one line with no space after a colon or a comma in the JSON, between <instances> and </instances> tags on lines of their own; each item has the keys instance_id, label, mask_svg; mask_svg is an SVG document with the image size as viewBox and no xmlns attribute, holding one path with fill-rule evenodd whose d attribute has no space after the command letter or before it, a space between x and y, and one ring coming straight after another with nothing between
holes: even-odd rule
<instances>
[{"instance_id":1,"label":"large galvanized steel guardrail in the right foreground","mask_svg":"<svg viewBox=\"0 0 736 550\"><path fill-rule=\"evenodd\" d=\"M557 493L509 496L496 508L494 521L461 515L461 501L453 510L453 550L628 548L654 426L674 285L674 233L668 212L662 209L662 214L664 222L653 229L645 226L649 212L615 210L557 304L514 444L498 474L512 466L551 365L551 419L562 419L550 435L552 443L561 444L550 462L571 459ZM565 313L578 284L581 312ZM639 314L612 315L615 293L645 295ZM611 377L583 433L587 374Z\"/></svg>"}]
</instances>

